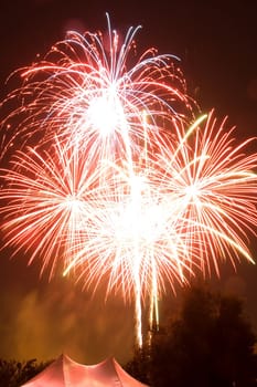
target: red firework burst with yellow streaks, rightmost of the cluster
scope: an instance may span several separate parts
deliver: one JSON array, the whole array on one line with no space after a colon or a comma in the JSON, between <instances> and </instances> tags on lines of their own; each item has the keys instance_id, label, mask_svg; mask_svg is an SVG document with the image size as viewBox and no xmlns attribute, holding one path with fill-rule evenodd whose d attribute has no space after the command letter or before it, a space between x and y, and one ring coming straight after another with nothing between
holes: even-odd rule
<instances>
[{"instance_id":1,"label":"red firework burst with yellow streaks, rightmost of the cluster","mask_svg":"<svg viewBox=\"0 0 257 387\"><path fill-rule=\"evenodd\" d=\"M247 230L256 234L257 226L257 155L246 155L253 138L236 145L233 129L226 132L224 126L225 121L217 127L210 114L206 125L196 127L184 143L188 134L182 125L176 129L185 146L173 153L167 149L158 166L163 170L161 182L180 197L186 227L202 241L202 270L210 272L212 261L217 274L218 261L227 257L233 264L240 255L254 263Z\"/></svg>"}]
</instances>

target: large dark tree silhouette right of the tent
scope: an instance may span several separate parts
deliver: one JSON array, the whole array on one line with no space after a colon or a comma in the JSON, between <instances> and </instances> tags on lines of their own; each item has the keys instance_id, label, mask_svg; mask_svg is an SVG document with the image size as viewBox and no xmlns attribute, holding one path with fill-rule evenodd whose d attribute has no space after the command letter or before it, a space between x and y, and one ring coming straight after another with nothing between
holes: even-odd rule
<instances>
[{"instance_id":1,"label":"large dark tree silhouette right of the tent","mask_svg":"<svg viewBox=\"0 0 257 387\"><path fill-rule=\"evenodd\" d=\"M154 334L151 348L136 354L127 370L152 387L257 386L256 336L243 306L204 286L188 290L179 317Z\"/></svg>"}]
</instances>

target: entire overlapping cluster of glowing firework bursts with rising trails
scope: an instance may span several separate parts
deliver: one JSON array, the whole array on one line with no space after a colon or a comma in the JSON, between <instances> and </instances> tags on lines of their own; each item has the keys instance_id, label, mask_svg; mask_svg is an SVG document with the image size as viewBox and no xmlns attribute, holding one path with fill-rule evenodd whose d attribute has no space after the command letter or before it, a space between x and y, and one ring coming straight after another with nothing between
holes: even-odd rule
<instances>
[{"instance_id":1,"label":"entire overlapping cluster of glowing firework bursts with rising trails","mask_svg":"<svg viewBox=\"0 0 257 387\"><path fill-rule=\"evenodd\" d=\"M61 261L85 287L133 300L141 345L144 301L152 327L168 285L218 274L226 257L253 261L257 155L212 113L193 121L171 55L135 61L138 29L120 44L108 28L107 45L69 32L19 71L23 85L3 102L21 104L2 121L0 213L7 245L41 258L42 272Z\"/></svg>"}]
</instances>

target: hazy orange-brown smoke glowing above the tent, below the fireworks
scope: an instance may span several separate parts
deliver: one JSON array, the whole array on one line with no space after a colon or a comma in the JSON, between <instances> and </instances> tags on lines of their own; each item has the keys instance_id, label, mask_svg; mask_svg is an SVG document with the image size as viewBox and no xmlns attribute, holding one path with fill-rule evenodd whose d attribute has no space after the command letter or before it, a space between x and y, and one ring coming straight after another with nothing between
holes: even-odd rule
<instances>
[{"instance_id":1,"label":"hazy orange-brown smoke glowing above the tent, below the fireworks","mask_svg":"<svg viewBox=\"0 0 257 387\"><path fill-rule=\"evenodd\" d=\"M69 279L39 280L33 268L14 261L6 262L1 283L1 358L49 360L65 353L96 364L108 356L120 363L131 357L132 304L119 295L105 300L103 290L93 296Z\"/></svg>"}]
</instances>

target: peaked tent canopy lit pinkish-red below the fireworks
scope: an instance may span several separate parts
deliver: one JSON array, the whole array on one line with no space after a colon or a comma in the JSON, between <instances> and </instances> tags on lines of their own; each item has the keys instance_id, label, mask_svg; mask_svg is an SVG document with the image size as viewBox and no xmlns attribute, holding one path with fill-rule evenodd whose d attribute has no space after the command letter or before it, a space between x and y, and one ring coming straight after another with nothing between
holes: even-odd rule
<instances>
[{"instance_id":1,"label":"peaked tent canopy lit pinkish-red below the fireworks","mask_svg":"<svg viewBox=\"0 0 257 387\"><path fill-rule=\"evenodd\" d=\"M146 387L114 359L93 365L82 365L61 355L42 373L22 387Z\"/></svg>"}]
</instances>

